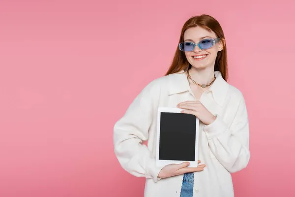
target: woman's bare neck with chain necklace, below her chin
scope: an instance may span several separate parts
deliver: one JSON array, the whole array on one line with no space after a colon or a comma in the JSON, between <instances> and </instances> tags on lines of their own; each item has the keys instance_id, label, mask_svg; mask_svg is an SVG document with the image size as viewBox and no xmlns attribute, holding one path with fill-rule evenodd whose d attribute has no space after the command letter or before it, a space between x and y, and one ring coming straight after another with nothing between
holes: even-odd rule
<instances>
[{"instance_id":1,"label":"woman's bare neck with chain necklace, below her chin","mask_svg":"<svg viewBox=\"0 0 295 197\"><path fill-rule=\"evenodd\" d=\"M192 66L189 74L198 84L209 84L214 78L214 67L198 69Z\"/></svg>"}]
</instances>

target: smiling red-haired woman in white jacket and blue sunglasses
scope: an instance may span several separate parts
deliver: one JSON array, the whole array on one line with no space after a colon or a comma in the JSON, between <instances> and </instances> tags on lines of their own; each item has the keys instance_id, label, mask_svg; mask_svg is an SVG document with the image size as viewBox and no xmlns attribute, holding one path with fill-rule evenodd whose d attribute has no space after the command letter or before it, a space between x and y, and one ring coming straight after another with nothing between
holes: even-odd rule
<instances>
[{"instance_id":1,"label":"smiling red-haired woman in white jacket and blue sunglasses","mask_svg":"<svg viewBox=\"0 0 295 197\"><path fill-rule=\"evenodd\" d=\"M226 81L220 24L209 15L190 18L166 75L150 82L114 127L118 161L129 173L146 177L145 197L234 197L231 173L250 159L249 125L242 93ZM199 118L198 157L204 164L156 167L158 107L178 107ZM142 145L147 140L148 146Z\"/></svg>"}]
</instances>

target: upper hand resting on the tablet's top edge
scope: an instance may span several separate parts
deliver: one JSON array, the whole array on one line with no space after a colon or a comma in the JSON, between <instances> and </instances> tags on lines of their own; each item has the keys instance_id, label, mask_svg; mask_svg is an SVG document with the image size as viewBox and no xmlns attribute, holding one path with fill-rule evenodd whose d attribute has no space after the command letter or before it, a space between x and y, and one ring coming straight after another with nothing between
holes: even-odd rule
<instances>
[{"instance_id":1,"label":"upper hand resting on the tablet's top edge","mask_svg":"<svg viewBox=\"0 0 295 197\"><path fill-rule=\"evenodd\" d=\"M205 125L211 124L216 119L199 100L180 102L177 107L185 109L181 113L195 115Z\"/></svg>"}]
</instances>

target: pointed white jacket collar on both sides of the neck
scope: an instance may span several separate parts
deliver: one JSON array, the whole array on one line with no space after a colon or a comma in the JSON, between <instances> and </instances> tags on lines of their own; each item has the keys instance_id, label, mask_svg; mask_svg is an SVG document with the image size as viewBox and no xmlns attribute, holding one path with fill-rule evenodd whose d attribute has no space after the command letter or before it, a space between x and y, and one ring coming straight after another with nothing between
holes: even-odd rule
<instances>
[{"instance_id":1,"label":"pointed white jacket collar on both sides of the neck","mask_svg":"<svg viewBox=\"0 0 295 197\"><path fill-rule=\"evenodd\" d=\"M216 80L209 87L208 91L212 92L213 99L215 102L222 106L229 89L229 84L222 78L222 75L219 71L214 71ZM189 82L187 80L186 72L180 70L177 73L169 75L169 95L191 92Z\"/></svg>"}]
</instances>

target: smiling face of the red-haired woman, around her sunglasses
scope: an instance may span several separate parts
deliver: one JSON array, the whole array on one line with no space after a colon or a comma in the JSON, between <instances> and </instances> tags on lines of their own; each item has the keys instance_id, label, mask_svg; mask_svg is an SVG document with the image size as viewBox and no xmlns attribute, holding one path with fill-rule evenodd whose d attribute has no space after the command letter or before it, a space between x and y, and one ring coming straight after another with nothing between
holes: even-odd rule
<instances>
[{"instance_id":1,"label":"smiling face of the red-haired woman, around her sunglasses","mask_svg":"<svg viewBox=\"0 0 295 197\"><path fill-rule=\"evenodd\" d=\"M187 29L183 34L184 42L194 42L198 43L201 40L208 38L217 38L214 32L209 32L204 28L199 26ZM187 61L197 69L205 69L208 67L213 67L215 64L215 59L217 57L218 51L223 49L222 42L218 42L208 49L201 50L198 45L191 52L186 51L185 57Z\"/></svg>"}]
</instances>

